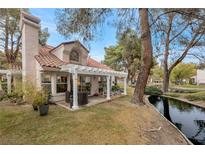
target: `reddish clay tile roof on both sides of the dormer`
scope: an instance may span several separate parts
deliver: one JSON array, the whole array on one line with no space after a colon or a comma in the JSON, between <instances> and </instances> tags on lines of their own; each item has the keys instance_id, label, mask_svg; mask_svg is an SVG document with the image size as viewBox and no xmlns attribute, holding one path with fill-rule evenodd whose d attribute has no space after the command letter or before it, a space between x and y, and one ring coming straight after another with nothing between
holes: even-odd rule
<instances>
[{"instance_id":1,"label":"reddish clay tile roof on both sides of the dormer","mask_svg":"<svg viewBox=\"0 0 205 154\"><path fill-rule=\"evenodd\" d=\"M52 49L54 49L54 47L50 45L39 47L39 55L36 55L35 58L43 68L45 68L46 70L48 70L48 68L55 68L55 69L58 68L59 69L59 66L68 64L60 60L53 53L51 53ZM91 57L88 57L87 66L112 70L110 67L97 62Z\"/></svg>"}]
</instances>

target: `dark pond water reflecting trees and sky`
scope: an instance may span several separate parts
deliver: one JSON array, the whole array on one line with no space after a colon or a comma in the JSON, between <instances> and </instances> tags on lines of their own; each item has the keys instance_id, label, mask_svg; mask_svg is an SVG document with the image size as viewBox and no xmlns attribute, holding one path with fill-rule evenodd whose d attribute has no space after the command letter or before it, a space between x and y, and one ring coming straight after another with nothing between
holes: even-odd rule
<instances>
[{"instance_id":1,"label":"dark pond water reflecting trees and sky","mask_svg":"<svg viewBox=\"0 0 205 154\"><path fill-rule=\"evenodd\" d=\"M205 109L175 99L150 96L149 101L193 144L205 145Z\"/></svg>"}]
</instances>

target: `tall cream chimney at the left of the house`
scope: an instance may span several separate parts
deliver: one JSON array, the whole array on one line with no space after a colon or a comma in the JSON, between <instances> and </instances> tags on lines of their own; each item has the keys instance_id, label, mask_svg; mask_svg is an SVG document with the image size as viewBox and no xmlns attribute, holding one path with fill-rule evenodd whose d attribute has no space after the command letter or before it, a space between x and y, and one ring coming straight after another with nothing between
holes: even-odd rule
<instances>
[{"instance_id":1,"label":"tall cream chimney at the left of the house","mask_svg":"<svg viewBox=\"0 0 205 154\"><path fill-rule=\"evenodd\" d=\"M40 19L21 12L20 28L22 31L22 78L23 82L37 82L35 55L39 52Z\"/></svg>"}]
</instances>

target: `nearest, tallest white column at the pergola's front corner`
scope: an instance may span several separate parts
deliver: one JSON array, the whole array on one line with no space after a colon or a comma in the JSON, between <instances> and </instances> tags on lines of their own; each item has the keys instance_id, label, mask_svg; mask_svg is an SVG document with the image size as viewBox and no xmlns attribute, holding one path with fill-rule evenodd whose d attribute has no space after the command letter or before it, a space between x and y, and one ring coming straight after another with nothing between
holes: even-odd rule
<instances>
[{"instance_id":1,"label":"nearest, tallest white column at the pergola's front corner","mask_svg":"<svg viewBox=\"0 0 205 154\"><path fill-rule=\"evenodd\" d=\"M73 76L73 106L72 106L72 109L78 109L79 106L78 106L78 74L77 72L74 72L72 74Z\"/></svg>"}]
</instances>

